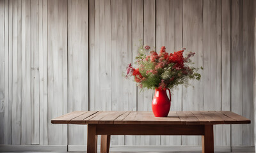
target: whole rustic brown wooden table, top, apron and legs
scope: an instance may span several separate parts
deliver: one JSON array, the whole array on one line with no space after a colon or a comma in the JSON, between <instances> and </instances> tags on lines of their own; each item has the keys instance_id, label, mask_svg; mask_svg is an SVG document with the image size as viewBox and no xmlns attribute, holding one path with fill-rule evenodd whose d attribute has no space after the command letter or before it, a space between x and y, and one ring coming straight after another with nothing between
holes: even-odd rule
<instances>
[{"instance_id":1,"label":"whole rustic brown wooden table, top, apron and legs","mask_svg":"<svg viewBox=\"0 0 256 153\"><path fill-rule=\"evenodd\" d=\"M202 135L202 152L214 152L214 124L250 124L250 120L229 111L170 112L154 117L152 112L77 111L52 124L88 124L87 152L109 152L111 135Z\"/></svg>"}]
</instances>

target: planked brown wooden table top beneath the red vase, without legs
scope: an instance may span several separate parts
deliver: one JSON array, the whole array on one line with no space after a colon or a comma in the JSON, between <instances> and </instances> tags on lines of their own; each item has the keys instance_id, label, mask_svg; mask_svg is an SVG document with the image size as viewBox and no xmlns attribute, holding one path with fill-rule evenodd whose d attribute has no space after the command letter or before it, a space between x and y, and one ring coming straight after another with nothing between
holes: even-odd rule
<instances>
[{"instance_id":1,"label":"planked brown wooden table top beneath the red vase, without legs","mask_svg":"<svg viewBox=\"0 0 256 153\"><path fill-rule=\"evenodd\" d=\"M51 120L52 124L250 124L251 120L230 111L152 112L76 111Z\"/></svg>"}]
</instances>

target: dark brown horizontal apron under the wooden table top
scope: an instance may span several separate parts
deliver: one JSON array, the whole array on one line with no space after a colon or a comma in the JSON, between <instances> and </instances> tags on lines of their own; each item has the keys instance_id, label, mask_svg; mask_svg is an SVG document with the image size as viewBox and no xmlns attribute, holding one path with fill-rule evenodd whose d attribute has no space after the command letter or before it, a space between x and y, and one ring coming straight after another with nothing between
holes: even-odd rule
<instances>
[{"instance_id":1,"label":"dark brown horizontal apron under the wooden table top","mask_svg":"<svg viewBox=\"0 0 256 153\"><path fill-rule=\"evenodd\" d=\"M204 135L204 125L88 124L96 135Z\"/></svg>"}]
</instances>

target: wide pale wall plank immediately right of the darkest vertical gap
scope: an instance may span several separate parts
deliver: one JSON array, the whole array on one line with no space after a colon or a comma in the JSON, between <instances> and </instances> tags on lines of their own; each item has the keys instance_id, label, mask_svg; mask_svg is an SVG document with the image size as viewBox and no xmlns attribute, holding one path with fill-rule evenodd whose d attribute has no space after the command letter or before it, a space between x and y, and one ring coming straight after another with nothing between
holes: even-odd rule
<instances>
[{"instance_id":1,"label":"wide pale wall plank immediately right of the darkest vertical gap","mask_svg":"<svg viewBox=\"0 0 256 153\"><path fill-rule=\"evenodd\" d=\"M111 1L90 8L90 110L111 110Z\"/></svg>"}]
</instances>

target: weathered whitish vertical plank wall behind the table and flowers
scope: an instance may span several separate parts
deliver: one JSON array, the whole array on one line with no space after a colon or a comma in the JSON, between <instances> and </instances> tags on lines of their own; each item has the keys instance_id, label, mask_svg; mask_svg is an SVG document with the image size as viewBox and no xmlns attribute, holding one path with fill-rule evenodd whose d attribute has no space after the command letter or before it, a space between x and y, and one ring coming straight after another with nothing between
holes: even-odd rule
<instances>
[{"instance_id":1,"label":"weathered whitish vertical plank wall behind the table and flowers","mask_svg":"<svg viewBox=\"0 0 256 153\"><path fill-rule=\"evenodd\" d=\"M154 92L122 77L142 40L157 52L186 47L204 67L200 82L173 91L171 110L232 110L252 124L216 126L215 144L254 145L255 12L255 0L0 0L0 144L85 145L86 126L51 119L75 110L151 111ZM113 136L111 144L201 138Z\"/></svg>"}]
</instances>

